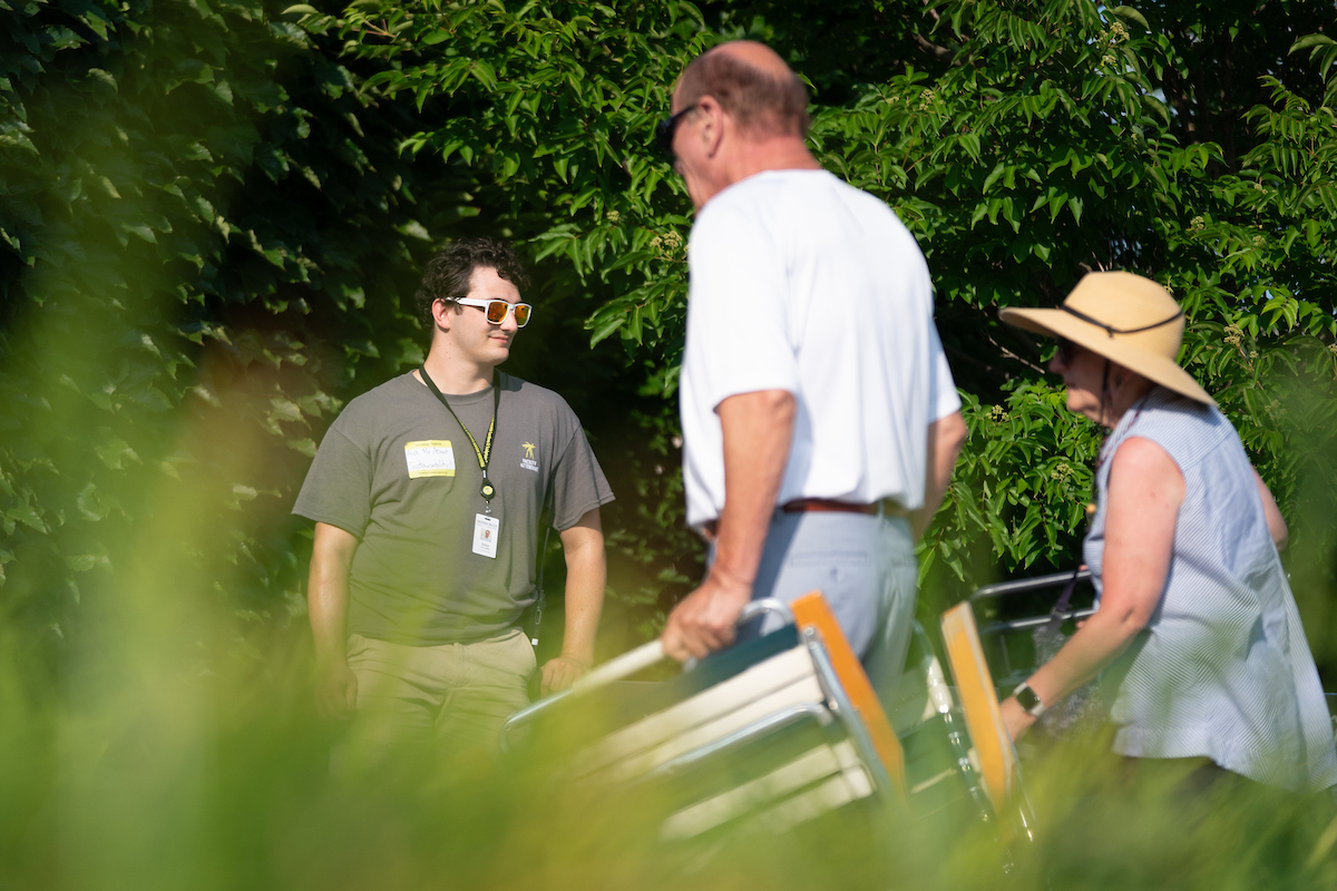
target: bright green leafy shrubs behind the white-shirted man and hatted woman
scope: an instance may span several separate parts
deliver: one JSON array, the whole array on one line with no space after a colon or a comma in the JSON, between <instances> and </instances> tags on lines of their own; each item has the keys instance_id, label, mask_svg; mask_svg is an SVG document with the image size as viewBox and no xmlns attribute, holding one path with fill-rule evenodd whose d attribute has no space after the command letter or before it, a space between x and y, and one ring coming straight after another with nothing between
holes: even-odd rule
<instances>
[{"instance_id":1,"label":"bright green leafy shrubs behind the white-shirted man and hatted woman","mask_svg":"<svg viewBox=\"0 0 1337 891\"><path fill-rule=\"evenodd\" d=\"M821 162L892 204L935 274L972 439L925 577L960 590L1075 558L1100 434L1066 414L1044 346L996 307L1131 269L1183 301L1186 361L1298 521L1318 610L1333 593L1337 142L1332 41L1306 35L1333 19L1312 4L366 1L341 27L384 65L368 88L422 108L405 147L503 190L517 234L602 298L591 339L619 337L646 391L668 397L690 208L647 136L702 45L767 40L813 84ZM443 107L457 116L432 124Z\"/></svg>"}]
</instances>

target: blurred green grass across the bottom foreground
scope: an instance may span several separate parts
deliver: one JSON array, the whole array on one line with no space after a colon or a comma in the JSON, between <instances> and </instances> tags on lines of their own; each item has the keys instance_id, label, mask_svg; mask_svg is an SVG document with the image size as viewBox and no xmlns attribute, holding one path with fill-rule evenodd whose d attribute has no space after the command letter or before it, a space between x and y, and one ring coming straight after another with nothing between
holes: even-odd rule
<instances>
[{"instance_id":1,"label":"blurred green grass across the bottom foreground","mask_svg":"<svg viewBox=\"0 0 1337 891\"><path fill-rule=\"evenodd\" d=\"M144 582L144 578L139 578ZM0 887L138 888L1332 888L1326 797L1123 788L1099 745L1028 765L1036 842L967 811L828 818L718 852L655 843L658 803L554 781L560 747L505 764L397 760L333 776L299 637L199 660L226 614L126 596L60 691L0 636ZM187 602L186 598L178 598ZM193 612L189 617L183 612ZM78 661L78 660L76 660ZM1007 866L1007 864L1011 866Z\"/></svg>"}]
</instances>

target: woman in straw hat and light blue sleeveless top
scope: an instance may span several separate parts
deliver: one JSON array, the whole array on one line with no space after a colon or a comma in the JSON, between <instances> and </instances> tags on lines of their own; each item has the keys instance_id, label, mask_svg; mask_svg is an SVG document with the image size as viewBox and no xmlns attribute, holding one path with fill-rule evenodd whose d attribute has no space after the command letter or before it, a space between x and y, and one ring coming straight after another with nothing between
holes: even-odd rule
<instances>
[{"instance_id":1,"label":"woman in straw hat and light blue sleeveless top","mask_svg":"<svg viewBox=\"0 0 1337 891\"><path fill-rule=\"evenodd\" d=\"M1286 524L1234 427L1175 361L1179 305L1139 275L1091 273L1060 309L1001 317L1059 339L1050 370L1068 409L1112 430L1083 548L1099 605L1003 703L1012 737L1103 672L1119 755L1296 791L1337 784L1332 723L1277 556Z\"/></svg>"}]
</instances>

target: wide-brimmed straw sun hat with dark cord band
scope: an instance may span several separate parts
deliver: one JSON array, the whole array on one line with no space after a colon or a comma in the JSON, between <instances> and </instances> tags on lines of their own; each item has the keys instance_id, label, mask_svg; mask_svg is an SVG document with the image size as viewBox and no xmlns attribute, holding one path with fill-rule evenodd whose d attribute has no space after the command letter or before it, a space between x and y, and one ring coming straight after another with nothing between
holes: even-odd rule
<instances>
[{"instance_id":1,"label":"wide-brimmed straw sun hat with dark cord band","mask_svg":"<svg viewBox=\"0 0 1337 891\"><path fill-rule=\"evenodd\" d=\"M1132 273L1088 273L1056 310L1004 309L1008 325L1072 341L1152 383L1215 405L1175 361L1183 310L1170 293Z\"/></svg>"}]
</instances>

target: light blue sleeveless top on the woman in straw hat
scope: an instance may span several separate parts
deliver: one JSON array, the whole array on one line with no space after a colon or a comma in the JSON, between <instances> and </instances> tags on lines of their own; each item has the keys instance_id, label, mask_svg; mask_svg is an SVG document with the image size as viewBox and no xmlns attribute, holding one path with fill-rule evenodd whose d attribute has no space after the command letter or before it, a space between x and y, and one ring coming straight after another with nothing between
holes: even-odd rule
<instances>
[{"instance_id":1,"label":"light blue sleeveless top on the woman in straw hat","mask_svg":"<svg viewBox=\"0 0 1337 891\"><path fill-rule=\"evenodd\" d=\"M1300 612L1249 457L1217 409L1157 387L1110 434L1083 548L1096 590L1110 465L1128 437L1170 454L1185 500L1161 604L1102 676L1114 751L1205 756L1296 791L1337 784L1332 720Z\"/></svg>"}]
</instances>

